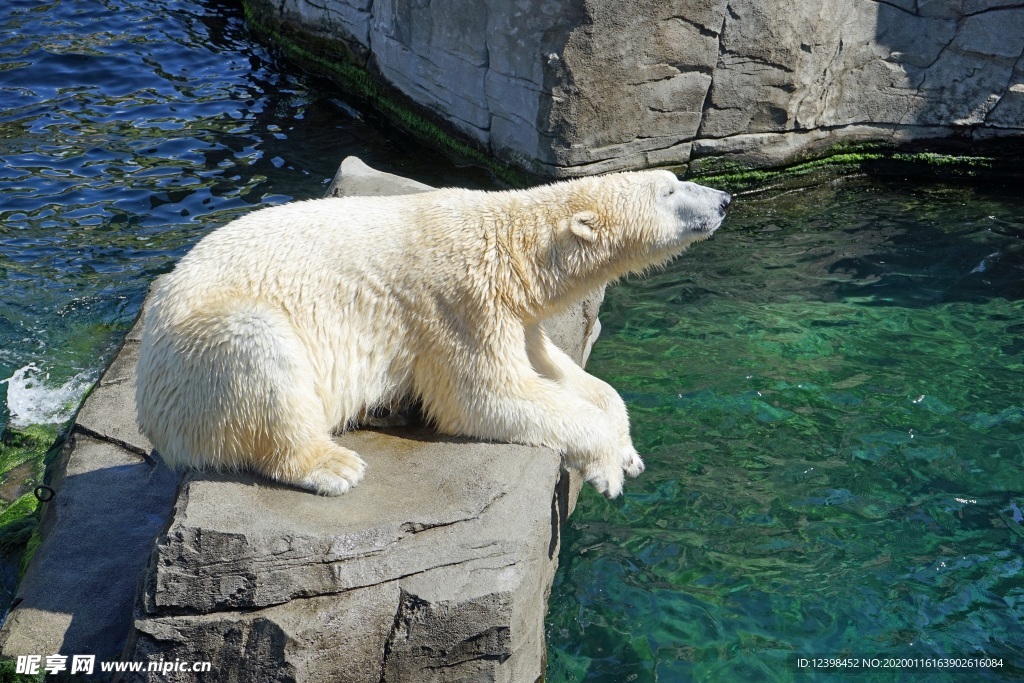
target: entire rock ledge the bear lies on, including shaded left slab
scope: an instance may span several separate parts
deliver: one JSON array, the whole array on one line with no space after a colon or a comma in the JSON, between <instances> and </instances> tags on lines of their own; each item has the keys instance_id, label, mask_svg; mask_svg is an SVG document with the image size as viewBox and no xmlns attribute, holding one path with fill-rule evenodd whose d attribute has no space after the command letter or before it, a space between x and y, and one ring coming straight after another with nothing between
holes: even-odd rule
<instances>
[{"instance_id":1,"label":"entire rock ledge the bear lies on, including shaded left slab","mask_svg":"<svg viewBox=\"0 0 1024 683\"><path fill-rule=\"evenodd\" d=\"M342 164L329 194L426 185ZM583 359L600 296L547 325ZM123 680L536 681L559 530L580 489L546 449L422 427L339 437L337 499L169 472L134 426L140 324L86 400L0 651L209 660ZM99 677L101 679L101 677Z\"/></svg>"}]
</instances>

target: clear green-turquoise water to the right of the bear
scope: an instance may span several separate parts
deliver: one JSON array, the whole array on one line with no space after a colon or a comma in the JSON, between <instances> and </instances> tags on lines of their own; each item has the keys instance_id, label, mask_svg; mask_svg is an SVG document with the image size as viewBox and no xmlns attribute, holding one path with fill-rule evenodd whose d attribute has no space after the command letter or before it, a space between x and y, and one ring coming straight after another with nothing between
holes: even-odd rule
<instances>
[{"instance_id":1,"label":"clear green-turquoise water to the right of the bear","mask_svg":"<svg viewBox=\"0 0 1024 683\"><path fill-rule=\"evenodd\" d=\"M1024 680L1019 190L741 197L710 242L611 289L602 321L590 370L647 471L569 520L549 681L984 654L1001 673L856 680Z\"/></svg>"}]
</instances>

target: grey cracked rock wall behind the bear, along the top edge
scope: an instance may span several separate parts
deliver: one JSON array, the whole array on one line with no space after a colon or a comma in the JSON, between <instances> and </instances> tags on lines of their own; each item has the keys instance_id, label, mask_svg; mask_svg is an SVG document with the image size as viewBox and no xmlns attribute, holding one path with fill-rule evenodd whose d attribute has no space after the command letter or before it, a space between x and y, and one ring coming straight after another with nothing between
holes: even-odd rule
<instances>
[{"instance_id":1,"label":"grey cracked rock wall behind the bear, along the top edge","mask_svg":"<svg viewBox=\"0 0 1024 683\"><path fill-rule=\"evenodd\" d=\"M1024 134L1024 4L1007 0L249 4L545 176Z\"/></svg>"}]
</instances>

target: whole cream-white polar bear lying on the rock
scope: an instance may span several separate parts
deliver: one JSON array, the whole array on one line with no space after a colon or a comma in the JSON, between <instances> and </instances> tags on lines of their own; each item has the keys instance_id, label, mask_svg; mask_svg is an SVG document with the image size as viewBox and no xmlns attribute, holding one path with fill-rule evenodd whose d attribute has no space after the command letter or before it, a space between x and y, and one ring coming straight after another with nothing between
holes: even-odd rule
<instances>
[{"instance_id":1,"label":"whole cream-white polar bear lying on the rock","mask_svg":"<svg viewBox=\"0 0 1024 683\"><path fill-rule=\"evenodd\" d=\"M332 434L412 396L438 430L550 446L614 498L644 467L626 407L540 324L708 238L728 204L644 171L255 211L155 289L139 428L172 467L337 496L366 465Z\"/></svg>"}]
</instances>

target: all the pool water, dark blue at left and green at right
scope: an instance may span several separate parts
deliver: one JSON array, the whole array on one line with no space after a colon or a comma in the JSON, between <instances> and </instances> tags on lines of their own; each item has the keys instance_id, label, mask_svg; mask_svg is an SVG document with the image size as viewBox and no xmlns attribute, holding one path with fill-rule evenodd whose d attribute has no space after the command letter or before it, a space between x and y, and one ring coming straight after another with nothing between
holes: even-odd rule
<instances>
[{"instance_id":1,"label":"all the pool water, dark blue at left and green at right","mask_svg":"<svg viewBox=\"0 0 1024 683\"><path fill-rule=\"evenodd\" d=\"M68 419L157 274L351 154L489 185L282 62L236 4L4 2L0 430ZM740 197L711 242L612 288L591 370L648 469L621 501L584 490L549 680L1020 663L1022 245L1011 189L849 179Z\"/></svg>"}]
</instances>

